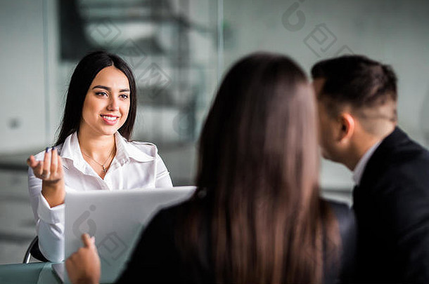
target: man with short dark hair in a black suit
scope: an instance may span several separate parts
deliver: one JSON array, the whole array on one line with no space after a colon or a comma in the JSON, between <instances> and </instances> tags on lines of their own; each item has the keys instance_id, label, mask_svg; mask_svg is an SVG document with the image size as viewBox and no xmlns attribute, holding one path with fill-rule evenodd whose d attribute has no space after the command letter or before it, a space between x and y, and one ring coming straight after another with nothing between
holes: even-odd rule
<instances>
[{"instance_id":1,"label":"man with short dark hair in a black suit","mask_svg":"<svg viewBox=\"0 0 429 284\"><path fill-rule=\"evenodd\" d=\"M325 158L353 171L357 282L429 283L429 152L397 127L388 65L350 55L312 68Z\"/></svg>"}]
</instances>

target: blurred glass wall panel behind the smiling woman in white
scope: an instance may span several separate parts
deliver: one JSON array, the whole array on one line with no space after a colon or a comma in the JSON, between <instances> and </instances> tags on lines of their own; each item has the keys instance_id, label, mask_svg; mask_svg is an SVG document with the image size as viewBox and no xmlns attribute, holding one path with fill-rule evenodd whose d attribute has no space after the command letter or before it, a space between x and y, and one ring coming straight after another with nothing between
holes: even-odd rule
<instances>
[{"instance_id":1,"label":"blurred glass wall panel behind the smiling woman in white","mask_svg":"<svg viewBox=\"0 0 429 284\"><path fill-rule=\"evenodd\" d=\"M1 5L7 27L1 60L8 66L0 79L6 88L3 168L24 169L27 154L53 144L73 69L84 55L102 49L120 55L134 72L138 107L132 139L158 145L175 185L193 182L194 145L223 72L222 1ZM6 96L12 93L19 95Z\"/></svg>"}]
</instances>

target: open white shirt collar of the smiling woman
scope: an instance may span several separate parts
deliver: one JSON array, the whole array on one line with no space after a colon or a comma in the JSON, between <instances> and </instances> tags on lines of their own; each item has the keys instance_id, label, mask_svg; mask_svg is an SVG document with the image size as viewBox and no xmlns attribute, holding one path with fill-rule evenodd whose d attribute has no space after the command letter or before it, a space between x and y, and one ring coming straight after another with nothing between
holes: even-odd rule
<instances>
[{"instance_id":1,"label":"open white shirt collar of the smiling woman","mask_svg":"<svg viewBox=\"0 0 429 284\"><path fill-rule=\"evenodd\" d=\"M127 142L127 140L120 135L120 133L115 133L115 143L116 143L116 156L115 160L121 165L127 163L130 158L138 162L148 162L153 161L155 158L149 156L146 153L143 153L134 146L134 144ZM72 133L67 138L65 138L62 149L60 149L60 156L70 160L70 163L82 171L85 172L87 168L87 162L82 156L82 151L80 151L79 140L77 139L77 133ZM67 165L65 165L67 167Z\"/></svg>"}]
</instances>

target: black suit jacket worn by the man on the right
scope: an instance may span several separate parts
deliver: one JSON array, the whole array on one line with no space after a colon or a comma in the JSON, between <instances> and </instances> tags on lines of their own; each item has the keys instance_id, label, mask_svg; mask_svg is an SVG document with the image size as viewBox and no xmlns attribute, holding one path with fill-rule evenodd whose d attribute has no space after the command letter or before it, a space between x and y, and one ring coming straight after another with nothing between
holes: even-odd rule
<instances>
[{"instance_id":1,"label":"black suit jacket worn by the man on the right","mask_svg":"<svg viewBox=\"0 0 429 284\"><path fill-rule=\"evenodd\" d=\"M429 152L385 137L354 189L359 283L429 283Z\"/></svg>"}]
</instances>

